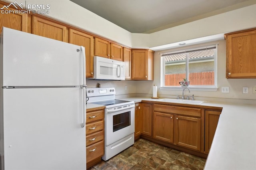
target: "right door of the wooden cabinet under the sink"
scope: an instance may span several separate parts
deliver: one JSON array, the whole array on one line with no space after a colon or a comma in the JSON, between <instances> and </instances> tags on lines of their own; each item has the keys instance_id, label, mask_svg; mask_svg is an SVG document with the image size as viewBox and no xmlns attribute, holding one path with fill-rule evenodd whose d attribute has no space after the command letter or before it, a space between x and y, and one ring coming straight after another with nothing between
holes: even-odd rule
<instances>
[{"instance_id":1,"label":"right door of the wooden cabinet under the sink","mask_svg":"<svg viewBox=\"0 0 256 170\"><path fill-rule=\"evenodd\" d=\"M174 143L194 150L201 150L201 119L175 116Z\"/></svg>"}]
</instances>

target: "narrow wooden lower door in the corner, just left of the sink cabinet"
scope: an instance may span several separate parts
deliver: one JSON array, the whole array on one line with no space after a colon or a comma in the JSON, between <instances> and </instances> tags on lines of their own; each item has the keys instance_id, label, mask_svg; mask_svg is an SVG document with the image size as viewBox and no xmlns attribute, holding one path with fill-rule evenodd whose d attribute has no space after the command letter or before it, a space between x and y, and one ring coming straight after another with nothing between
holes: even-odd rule
<instances>
[{"instance_id":1,"label":"narrow wooden lower door in the corner, just left of the sink cabinet","mask_svg":"<svg viewBox=\"0 0 256 170\"><path fill-rule=\"evenodd\" d=\"M152 136L152 104L142 103L143 127L142 134Z\"/></svg>"}]
</instances>

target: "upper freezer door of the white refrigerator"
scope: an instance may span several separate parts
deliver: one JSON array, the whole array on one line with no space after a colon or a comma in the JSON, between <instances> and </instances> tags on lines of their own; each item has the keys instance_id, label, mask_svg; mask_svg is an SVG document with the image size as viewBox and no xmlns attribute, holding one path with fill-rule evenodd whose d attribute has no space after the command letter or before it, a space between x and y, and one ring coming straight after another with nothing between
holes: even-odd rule
<instances>
[{"instance_id":1,"label":"upper freezer door of the white refrigerator","mask_svg":"<svg viewBox=\"0 0 256 170\"><path fill-rule=\"evenodd\" d=\"M3 28L2 86L83 85L78 45Z\"/></svg>"}]
</instances>

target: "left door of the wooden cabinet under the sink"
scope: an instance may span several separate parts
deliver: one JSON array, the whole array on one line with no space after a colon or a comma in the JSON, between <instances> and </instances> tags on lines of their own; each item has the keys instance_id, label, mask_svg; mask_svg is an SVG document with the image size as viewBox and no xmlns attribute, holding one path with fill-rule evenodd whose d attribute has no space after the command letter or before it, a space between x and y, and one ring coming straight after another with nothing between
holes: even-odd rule
<instances>
[{"instance_id":1,"label":"left door of the wooden cabinet under the sink","mask_svg":"<svg viewBox=\"0 0 256 170\"><path fill-rule=\"evenodd\" d=\"M153 137L173 143L174 117L166 113L153 113Z\"/></svg>"}]
</instances>

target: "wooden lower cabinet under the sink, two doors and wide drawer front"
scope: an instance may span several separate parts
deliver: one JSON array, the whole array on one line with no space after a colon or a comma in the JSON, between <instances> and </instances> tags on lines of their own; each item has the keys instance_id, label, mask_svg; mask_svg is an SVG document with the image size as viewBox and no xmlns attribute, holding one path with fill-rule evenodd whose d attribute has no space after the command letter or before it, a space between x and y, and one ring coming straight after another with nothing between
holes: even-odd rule
<instances>
[{"instance_id":1,"label":"wooden lower cabinet under the sink, two doors and wide drawer front","mask_svg":"<svg viewBox=\"0 0 256 170\"><path fill-rule=\"evenodd\" d=\"M153 137L201 151L201 109L154 104Z\"/></svg>"}]
</instances>

